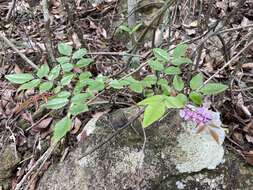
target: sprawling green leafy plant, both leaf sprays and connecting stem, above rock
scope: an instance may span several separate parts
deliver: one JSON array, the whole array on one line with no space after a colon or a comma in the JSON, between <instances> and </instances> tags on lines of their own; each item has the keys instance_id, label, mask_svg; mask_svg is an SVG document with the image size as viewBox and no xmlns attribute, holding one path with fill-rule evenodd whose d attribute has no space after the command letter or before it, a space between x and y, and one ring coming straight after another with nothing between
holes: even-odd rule
<instances>
[{"instance_id":1,"label":"sprawling green leafy plant, both leaf sprays and connecting stem, above rock","mask_svg":"<svg viewBox=\"0 0 253 190\"><path fill-rule=\"evenodd\" d=\"M136 80L132 76L117 80L103 75L92 76L88 66L94 61L87 56L86 49L73 51L72 46L60 43L58 44L60 57L57 58L58 64L53 68L44 64L35 74L10 74L5 78L19 84L18 91L35 88L39 94L53 92L54 95L41 106L47 109L67 110L66 116L58 121L53 129L53 143L57 143L71 129L74 117L89 110L88 101L105 89L129 88L135 93L146 96L147 98L138 104L146 106L143 127L160 119L169 108L183 108L189 101L188 97L196 105L201 105L203 95L224 91L227 86L223 84L203 85L203 76L199 73L190 81L190 93L183 92L188 86L180 76L181 66L191 63L191 60L186 57L186 49L186 45L178 46L174 50L172 59L165 50L153 49L154 57L150 59L149 67L162 77L151 74L143 80ZM75 68L79 71L75 72ZM156 93L153 87L156 87Z\"/></svg>"}]
</instances>

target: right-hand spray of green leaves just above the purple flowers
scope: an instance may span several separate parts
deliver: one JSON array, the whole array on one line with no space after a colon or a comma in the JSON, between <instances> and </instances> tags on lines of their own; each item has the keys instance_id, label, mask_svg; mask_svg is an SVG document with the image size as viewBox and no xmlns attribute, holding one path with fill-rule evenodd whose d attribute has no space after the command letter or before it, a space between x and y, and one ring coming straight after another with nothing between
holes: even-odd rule
<instances>
[{"instance_id":1,"label":"right-hand spray of green leaves just above the purple flowers","mask_svg":"<svg viewBox=\"0 0 253 190\"><path fill-rule=\"evenodd\" d=\"M159 120L167 109L184 108L189 101L200 106L203 102L203 96L216 95L227 89L227 86L221 83L204 85L204 77L201 73L193 76L189 85L185 84L182 76L180 76L182 74L181 67L192 63L186 57L186 50L185 44L179 45L175 48L173 56L169 58L166 50L153 49L154 58L150 60L149 66L159 75L162 75L162 78L157 82L162 93L148 97L138 103L140 106L145 106L143 127L148 127ZM184 89L188 90L184 91ZM188 91L189 93L185 93Z\"/></svg>"}]
</instances>

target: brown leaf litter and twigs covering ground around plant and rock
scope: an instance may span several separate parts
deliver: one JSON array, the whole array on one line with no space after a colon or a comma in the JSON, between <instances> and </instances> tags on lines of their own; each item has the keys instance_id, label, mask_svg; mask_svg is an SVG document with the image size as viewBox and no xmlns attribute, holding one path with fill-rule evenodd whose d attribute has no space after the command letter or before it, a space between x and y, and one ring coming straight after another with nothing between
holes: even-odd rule
<instances>
[{"instance_id":1,"label":"brown leaf litter and twigs covering ground around plant and rock","mask_svg":"<svg viewBox=\"0 0 253 190\"><path fill-rule=\"evenodd\" d=\"M222 95L211 96L205 101L212 110L221 113L227 132L225 146L245 159L249 167L253 165L251 0L175 1L168 8L170 16L164 15L167 20L158 15L159 19L153 23L150 20L163 8L162 1L142 1L144 4L136 9L135 19L143 24L132 36L118 32L119 26L131 17L126 2L122 0L101 3L50 0L48 7L43 6L43 2L0 0L0 155L8 144L15 145L14 156L18 159L8 174L12 189L50 147L52 125L56 119L64 117L66 110L54 114L40 113L38 104L44 99L38 90L17 91L19 86L11 84L5 76L32 73L43 64L55 66L55 58L59 56L57 45L62 42L75 49L87 49L87 55L94 60L87 68L92 76L102 74L113 79L132 72L136 79L142 79L152 72L143 63L152 57L153 48L159 46L170 52L177 44L187 44L187 54L193 66L186 68L188 72L183 77L189 81L191 75L202 72L205 79L211 77L213 81L229 86ZM143 33L145 29L147 31ZM133 44L130 44L135 43L130 43L132 38L137 38L137 48L131 48ZM138 58L134 59L134 66L126 60L126 56L131 55ZM143 94L129 89L105 90L96 97L106 100L106 107L115 110L135 105L143 99ZM61 141L54 159L59 160L64 152L74 148L83 126L96 113L105 110L102 103L91 107L89 112L75 118L76 124ZM41 169L42 173L51 160ZM35 174L30 179L34 181L30 189L35 188L38 176Z\"/></svg>"}]
</instances>

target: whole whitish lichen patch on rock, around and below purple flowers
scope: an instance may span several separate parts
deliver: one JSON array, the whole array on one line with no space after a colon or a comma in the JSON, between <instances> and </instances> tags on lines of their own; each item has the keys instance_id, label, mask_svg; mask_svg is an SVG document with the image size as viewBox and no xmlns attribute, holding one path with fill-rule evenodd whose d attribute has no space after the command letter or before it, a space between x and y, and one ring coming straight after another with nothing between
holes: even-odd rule
<instances>
[{"instance_id":1,"label":"whole whitish lichen patch on rock, around and below purple flowers","mask_svg":"<svg viewBox=\"0 0 253 190\"><path fill-rule=\"evenodd\" d=\"M198 132L197 128L200 123L194 122L197 118L195 110L201 110L201 113L209 115L208 120L202 123L203 129ZM185 111L186 112L186 111ZM188 113L189 112L189 113ZM182 132L178 135L178 145L175 147L175 163L179 172L198 172L202 169L215 169L219 164L224 162L224 149L222 143L225 138L225 132L221 128L220 115L217 112L207 110L206 108L196 108L191 106L188 112L184 114L196 115L196 117L188 117L186 122L182 122ZM201 114L200 113L200 114ZM210 123L215 127L210 127ZM216 135L215 139L213 137Z\"/></svg>"}]
</instances>

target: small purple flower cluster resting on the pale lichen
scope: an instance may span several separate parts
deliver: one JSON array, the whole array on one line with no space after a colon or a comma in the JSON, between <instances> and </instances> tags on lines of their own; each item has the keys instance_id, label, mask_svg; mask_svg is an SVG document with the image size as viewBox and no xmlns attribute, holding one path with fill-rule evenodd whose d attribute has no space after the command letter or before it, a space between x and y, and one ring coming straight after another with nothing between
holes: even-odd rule
<instances>
[{"instance_id":1,"label":"small purple flower cluster resting on the pale lichen","mask_svg":"<svg viewBox=\"0 0 253 190\"><path fill-rule=\"evenodd\" d=\"M205 107L196 108L194 106L186 106L179 111L179 115L186 121L193 121L197 124L207 124L212 120L212 111Z\"/></svg>"}]
</instances>

